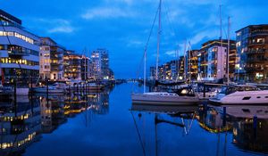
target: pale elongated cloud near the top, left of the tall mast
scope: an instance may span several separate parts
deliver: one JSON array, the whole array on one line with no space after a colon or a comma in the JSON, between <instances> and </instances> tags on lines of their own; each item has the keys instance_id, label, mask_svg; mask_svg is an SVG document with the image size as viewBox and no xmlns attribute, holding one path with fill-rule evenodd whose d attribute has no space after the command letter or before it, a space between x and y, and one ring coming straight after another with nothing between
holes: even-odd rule
<instances>
[{"instance_id":1,"label":"pale elongated cloud near the top, left of the tall mast","mask_svg":"<svg viewBox=\"0 0 268 156\"><path fill-rule=\"evenodd\" d=\"M133 16L134 13L123 10L119 7L97 7L94 9L88 9L85 13L81 14L81 17L86 20L92 20L96 18L101 19L114 19L114 18L126 18Z\"/></svg>"}]
</instances>

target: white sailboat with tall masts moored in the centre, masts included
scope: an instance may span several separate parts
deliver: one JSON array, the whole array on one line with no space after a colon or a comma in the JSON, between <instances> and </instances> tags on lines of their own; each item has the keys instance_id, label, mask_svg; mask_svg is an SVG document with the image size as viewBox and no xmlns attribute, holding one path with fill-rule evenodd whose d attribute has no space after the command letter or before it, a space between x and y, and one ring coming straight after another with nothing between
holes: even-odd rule
<instances>
[{"instance_id":1,"label":"white sailboat with tall masts moored in the centre, masts included","mask_svg":"<svg viewBox=\"0 0 268 156\"><path fill-rule=\"evenodd\" d=\"M157 58L156 58L156 73L155 80L158 80L158 56L160 48L160 34L161 34L161 5L162 0L159 2L158 13L159 13L159 23L158 23L158 34L157 34ZM147 62L147 47L144 54L144 93L142 94L131 94L132 103L140 104L151 104L151 105L188 105L197 104L199 99L193 89L189 86L181 87L176 92L151 92L146 93L146 62Z\"/></svg>"}]
</instances>

